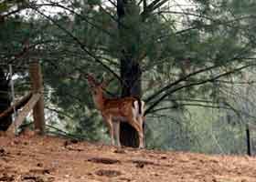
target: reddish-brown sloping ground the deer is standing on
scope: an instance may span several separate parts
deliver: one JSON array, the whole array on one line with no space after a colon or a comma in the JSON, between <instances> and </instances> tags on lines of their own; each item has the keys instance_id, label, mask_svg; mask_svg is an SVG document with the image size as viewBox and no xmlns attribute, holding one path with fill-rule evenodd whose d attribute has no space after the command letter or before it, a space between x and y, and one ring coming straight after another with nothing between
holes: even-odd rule
<instances>
[{"instance_id":1,"label":"reddish-brown sloping ground the deer is standing on","mask_svg":"<svg viewBox=\"0 0 256 182\"><path fill-rule=\"evenodd\" d=\"M0 136L0 181L256 182L256 157L117 148L53 136Z\"/></svg>"}]
</instances>

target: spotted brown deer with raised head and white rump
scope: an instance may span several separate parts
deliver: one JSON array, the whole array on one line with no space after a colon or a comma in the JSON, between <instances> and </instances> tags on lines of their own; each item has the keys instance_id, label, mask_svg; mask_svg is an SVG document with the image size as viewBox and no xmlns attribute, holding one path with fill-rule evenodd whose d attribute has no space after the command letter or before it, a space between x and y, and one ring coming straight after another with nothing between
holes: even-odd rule
<instances>
[{"instance_id":1,"label":"spotted brown deer with raised head and white rump","mask_svg":"<svg viewBox=\"0 0 256 182\"><path fill-rule=\"evenodd\" d=\"M94 105L101 112L101 116L108 126L112 146L114 146L115 137L117 146L121 147L120 122L128 122L138 133L139 148L143 148L144 101L135 96L108 98L104 95L105 82L99 83L91 75L86 77L91 89Z\"/></svg>"}]
</instances>

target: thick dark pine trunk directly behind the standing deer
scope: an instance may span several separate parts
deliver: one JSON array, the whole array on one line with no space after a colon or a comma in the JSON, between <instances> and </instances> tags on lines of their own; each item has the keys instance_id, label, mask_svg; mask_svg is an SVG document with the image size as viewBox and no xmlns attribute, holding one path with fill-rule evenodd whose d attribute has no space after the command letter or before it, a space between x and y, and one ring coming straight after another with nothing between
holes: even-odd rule
<instances>
[{"instance_id":1,"label":"thick dark pine trunk directly behind the standing deer","mask_svg":"<svg viewBox=\"0 0 256 182\"><path fill-rule=\"evenodd\" d=\"M120 65L121 65L121 79L122 96L136 96L141 97L141 68L134 56L133 46L127 42L127 25L123 21L127 15L127 0L117 0L117 15L119 20L119 38L120 38ZM128 25L129 26L129 25ZM134 43L136 44L136 43ZM127 123L121 123L120 126L120 141L126 147L138 147L139 137L136 130Z\"/></svg>"}]
</instances>

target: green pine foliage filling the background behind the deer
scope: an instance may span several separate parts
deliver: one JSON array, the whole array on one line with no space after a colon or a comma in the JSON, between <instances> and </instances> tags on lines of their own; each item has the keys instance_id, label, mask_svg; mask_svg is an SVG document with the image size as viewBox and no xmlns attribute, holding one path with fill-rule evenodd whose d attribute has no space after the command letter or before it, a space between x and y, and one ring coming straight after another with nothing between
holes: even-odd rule
<instances>
[{"instance_id":1,"label":"green pine foliage filling the background behind the deer","mask_svg":"<svg viewBox=\"0 0 256 182\"><path fill-rule=\"evenodd\" d=\"M9 12L14 2L22 3L6 2L0 4L1 13ZM234 99L244 94L231 90L224 81L237 87L232 82L243 81L246 74L236 72L225 79L206 80L253 64L255 3L191 3L192 8L185 6L180 12L163 5L142 16L142 7L129 2L127 15L120 20L120 32L115 7L100 0L64 2L67 9L54 15L40 7L31 10L37 15L10 15L1 23L1 62L12 60L27 40L29 45L37 45L15 64L27 66L32 58L42 63L47 112L55 113L48 124L93 141L108 140L84 76L91 73L99 79L113 78L108 91L119 96L121 83L110 70L120 71L124 50L142 68L147 107L155 106L146 119L147 147L244 153L243 124L232 126L220 117L229 114L226 107L233 110L231 116L244 113L241 103L245 101ZM212 68L207 69L209 66ZM27 72L18 75L19 89L27 89ZM233 95L227 94L227 89Z\"/></svg>"}]
</instances>

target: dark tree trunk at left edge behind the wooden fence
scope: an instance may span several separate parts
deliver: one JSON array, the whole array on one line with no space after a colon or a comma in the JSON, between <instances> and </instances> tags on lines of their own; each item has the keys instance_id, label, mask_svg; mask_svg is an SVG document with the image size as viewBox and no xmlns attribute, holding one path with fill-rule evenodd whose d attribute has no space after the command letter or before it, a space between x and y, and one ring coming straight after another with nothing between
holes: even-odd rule
<instances>
[{"instance_id":1,"label":"dark tree trunk at left edge behind the wooden fence","mask_svg":"<svg viewBox=\"0 0 256 182\"><path fill-rule=\"evenodd\" d=\"M10 105L9 81L6 79L5 72L0 68L0 113L5 111ZM12 116L5 116L0 119L0 131L6 131L12 124Z\"/></svg>"}]
</instances>

